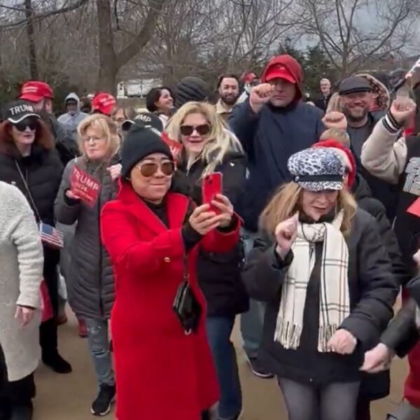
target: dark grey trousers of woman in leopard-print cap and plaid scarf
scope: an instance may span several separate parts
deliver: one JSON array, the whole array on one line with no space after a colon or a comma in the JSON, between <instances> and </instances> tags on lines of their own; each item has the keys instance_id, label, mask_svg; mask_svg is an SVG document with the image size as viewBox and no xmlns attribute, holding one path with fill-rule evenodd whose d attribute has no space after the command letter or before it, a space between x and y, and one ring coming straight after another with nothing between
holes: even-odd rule
<instances>
[{"instance_id":1,"label":"dark grey trousers of woman in leopard-print cap and plaid scarf","mask_svg":"<svg viewBox=\"0 0 420 420\"><path fill-rule=\"evenodd\" d=\"M289 420L356 420L360 382L335 382L323 387L279 378Z\"/></svg>"}]
</instances>

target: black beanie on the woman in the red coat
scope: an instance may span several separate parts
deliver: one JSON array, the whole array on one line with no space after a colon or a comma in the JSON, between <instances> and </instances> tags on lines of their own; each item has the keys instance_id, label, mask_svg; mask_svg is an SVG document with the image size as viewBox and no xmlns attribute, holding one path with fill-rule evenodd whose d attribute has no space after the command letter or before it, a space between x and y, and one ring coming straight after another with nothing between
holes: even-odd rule
<instances>
[{"instance_id":1,"label":"black beanie on the woman in the red coat","mask_svg":"<svg viewBox=\"0 0 420 420\"><path fill-rule=\"evenodd\" d=\"M133 125L125 137L121 151L121 177L127 179L132 168L152 153L163 153L173 159L171 149L158 134L146 127Z\"/></svg>"}]
</instances>

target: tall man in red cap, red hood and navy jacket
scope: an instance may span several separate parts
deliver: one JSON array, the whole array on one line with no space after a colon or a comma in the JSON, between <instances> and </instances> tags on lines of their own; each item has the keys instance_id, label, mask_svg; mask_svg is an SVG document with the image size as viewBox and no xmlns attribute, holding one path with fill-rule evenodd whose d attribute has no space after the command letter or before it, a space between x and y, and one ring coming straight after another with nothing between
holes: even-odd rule
<instances>
[{"instance_id":1,"label":"tall man in red cap, red hood and navy jacket","mask_svg":"<svg viewBox=\"0 0 420 420\"><path fill-rule=\"evenodd\" d=\"M258 218L274 190L292 178L287 161L309 148L324 130L322 111L302 102L302 67L290 55L274 57L262 73L262 84L253 87L249 99L235 106L228 121L248 154L249 176L241 209L246 244L253 243ZM258 361L264 307L251 300L241 317L244 349L253 373L272 377Z\"/></svg>"}]
</instances>

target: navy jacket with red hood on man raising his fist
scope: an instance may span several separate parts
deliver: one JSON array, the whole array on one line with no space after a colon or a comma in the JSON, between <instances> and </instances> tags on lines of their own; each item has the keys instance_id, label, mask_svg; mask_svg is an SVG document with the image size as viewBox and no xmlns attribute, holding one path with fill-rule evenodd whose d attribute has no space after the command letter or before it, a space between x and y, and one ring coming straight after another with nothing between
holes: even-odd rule
<instances>
[{"instance_id":1,"label":"navy jacket with red hood on man raising his fist","mask_svg":"<svg viewBox=\"0 0 420 420\"><path fill-rule=\"evenodd\" d=\"M235 106L228 122L248 155L246 194L238 211L246 228L254 232L270 195L291 180L287 169L290 155L311 147L325 130L321 121L323 112L300 100L302 69L293 57L281 55L272 59L262 73L262 80L269 68L277 64L283 64L297 80L295 100L285 107L265 104L257 114L247 99Z\"/></svg>"}]
</instances>

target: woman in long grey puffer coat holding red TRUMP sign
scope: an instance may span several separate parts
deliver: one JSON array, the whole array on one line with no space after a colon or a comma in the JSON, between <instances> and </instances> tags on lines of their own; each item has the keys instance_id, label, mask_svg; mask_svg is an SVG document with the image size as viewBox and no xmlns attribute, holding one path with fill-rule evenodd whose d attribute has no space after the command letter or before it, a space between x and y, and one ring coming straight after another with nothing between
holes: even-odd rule
<instances>
[{"instance_id":1,"label":"woman in long grey puffer coat holding red TRUMP sign","mask_svg":"<svg viewBox=\"0 0 420 420\"><path fill-rule=\"evenodd\" d=\"M78 126L82 156L71 160L62 178L55 216L64 225L76 225L71 241L71 270L68 275L69 304L87 327L87 340L97 375L99 393L91 412L105 415L115 396L108 338L108 320L114 298L114 279L106 249L99 234L99 216L106 202L116 197L120 174L118 148L120 139L111 118L94 114ZM71 188L71 176L77 167L99 183L94 202L80 200Z\"/></svg>"}]
</instances>

